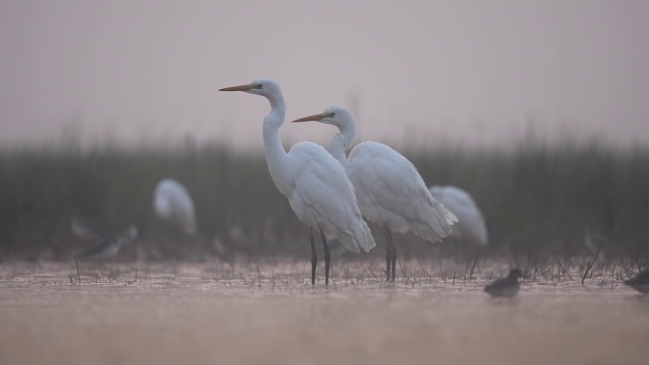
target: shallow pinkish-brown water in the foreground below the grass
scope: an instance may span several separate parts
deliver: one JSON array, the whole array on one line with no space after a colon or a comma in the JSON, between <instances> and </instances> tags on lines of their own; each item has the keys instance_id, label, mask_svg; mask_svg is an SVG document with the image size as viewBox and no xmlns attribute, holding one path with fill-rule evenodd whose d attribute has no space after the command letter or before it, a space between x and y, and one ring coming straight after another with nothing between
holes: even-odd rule
<instances>
[{"instance_id":1,"label":"shallow pinkish-brown water in the foreground below the grass","mask_svg":"<svg viewBox=\"0 0 649 365\"><path fill-rule=\"evenodd\" d=\"M523 284L519 296L508 300L487 297L481 290L486 279L451 284L450 278L417 281L415 275L392 285L365 272L369 266L335 268L330 288L323 283L311 288L303 264L281 270L176 263L174 268L152 264L145 271L147 266L108 270L82 264L79 284L76 269L67 264L6 265L0 275L1 362L646 364L649 359L649 296L612 280Z\"/></svg>"}]
</instances>

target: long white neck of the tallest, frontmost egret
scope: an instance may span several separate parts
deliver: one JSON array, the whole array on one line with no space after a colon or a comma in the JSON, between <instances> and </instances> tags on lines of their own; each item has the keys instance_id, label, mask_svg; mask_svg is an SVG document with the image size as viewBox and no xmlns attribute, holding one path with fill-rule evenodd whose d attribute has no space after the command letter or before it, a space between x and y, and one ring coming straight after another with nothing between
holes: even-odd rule
<instances>
[{"instance_id":1,"label":"long white neck of the tallest, frontmost egret","mask_svg":"<svg viewBox=\"0 0 649 365\"><path fill-rule=\"evenodd\" d=\"M263 147L273 183L286 195L289 188L287 177L291 171L288 166L288 153L280 140L280 126L286 116L286 104L282 94L270 95L268 101L271 102L271 113L263 118Z\"/></svg>"}]
</instances>

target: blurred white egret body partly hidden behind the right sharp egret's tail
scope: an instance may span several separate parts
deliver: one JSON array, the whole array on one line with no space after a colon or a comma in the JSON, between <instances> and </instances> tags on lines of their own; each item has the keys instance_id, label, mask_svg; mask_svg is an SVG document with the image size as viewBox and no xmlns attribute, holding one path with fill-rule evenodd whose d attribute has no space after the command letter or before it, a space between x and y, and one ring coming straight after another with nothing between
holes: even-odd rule
<instances>
[{"instance_id":1,"label":"blurred white egret body partly hidden behind the right sharp egret's tail","mask_svg":"<svg viewBox=\"0 0 649 365\"><path fill-rule=\"evenodd\" d=\"M448 236L463 242L477 245L487 245L487 227L484 217L471 197L471 194L456 186L431 186L430 194L435 200L458 217L458 223L453 226L453 232Z\"/></svg>"}]
</instances>

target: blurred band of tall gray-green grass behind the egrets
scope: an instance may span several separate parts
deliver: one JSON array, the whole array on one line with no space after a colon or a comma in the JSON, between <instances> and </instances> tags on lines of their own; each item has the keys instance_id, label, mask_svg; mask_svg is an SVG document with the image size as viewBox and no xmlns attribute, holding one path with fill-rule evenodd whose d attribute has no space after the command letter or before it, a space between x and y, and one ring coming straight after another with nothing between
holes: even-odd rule
<instances>
[{"instance_id":1,"label":"blurred band of tall gray-green grass behind the egrets","mask_svg":"<svg viewBox=\"0 0 649 365\"><path fill-rule=\"evenodd\" d=\"M473 195L487 221L492 253L581 253L589 226L614 240L620 253L633 245L646 255L648 149L617 151L570 140L550 147L526 140L508 149L448 144L401 152L427 184L452 184ZM261 152L193 144L82 151L71 144L0 151L0 258L69 259L80 247L69 231L73 214L113 228L134 220L140 228L138 257L158 250L160 257L182 258L182 251L160 249L168 232L153 214L152 198L165 177L185 184L195 200L199 237L180 244L187 249L310 255L308 229L276 190ZM378 245L372 253L382 255L382 231L374 233ZM399 249L432 254L427 247L420 242Z\"/></svg>"}]
</instances>

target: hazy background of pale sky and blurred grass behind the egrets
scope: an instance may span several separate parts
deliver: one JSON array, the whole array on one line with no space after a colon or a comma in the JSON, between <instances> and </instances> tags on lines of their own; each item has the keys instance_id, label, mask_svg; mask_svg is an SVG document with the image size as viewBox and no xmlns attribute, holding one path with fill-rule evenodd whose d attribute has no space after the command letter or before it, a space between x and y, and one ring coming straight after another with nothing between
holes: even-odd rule
<instances>
[{"instance_id":1,"label":"hazy background of pale sky and blurred grass behind the egrets","mask_svg":"<svg viewBox=\"0 0 649 365\"><path fill-rule=\"evenodd\" d=\"M132 259L308 256L260 148L267 101L217 91L272 77L289 120L347 105L361 140L470 192L484 254L583 255L588 227L607 259L644 262L648 18L647 1L0 0L0 260L69 260L88 247L72 216L136 222ZM281 130L287 148L334 133ZM195 200L191 239L153 213L167 177Z\"/></svg>"}]
</instances>

